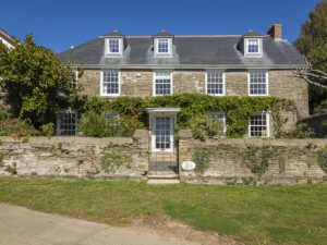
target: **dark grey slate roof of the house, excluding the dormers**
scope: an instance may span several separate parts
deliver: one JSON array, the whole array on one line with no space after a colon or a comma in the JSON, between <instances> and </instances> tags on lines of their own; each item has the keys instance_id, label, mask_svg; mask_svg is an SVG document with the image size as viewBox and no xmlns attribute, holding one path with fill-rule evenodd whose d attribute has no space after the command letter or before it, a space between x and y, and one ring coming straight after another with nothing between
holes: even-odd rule
<instances>
[{"instance_id":1,"label":"dark grey slate roof of the house, excluding the dormers","mask_svg":"<svg viewBox=\"0 0 327 245\"><path fill-rule=\"evenodd\" d=\"M123 57L106 57L104 38L99 37L60 53L59 58L73 64L82 63L85 68L292 69L305 65L292 45L286 40L274 40L268 35L261 35L263 57L244 57L237 48L243 36L175 35L172 58L154 57L153 36L125 36Z\"/></svg>"}]
</instances>

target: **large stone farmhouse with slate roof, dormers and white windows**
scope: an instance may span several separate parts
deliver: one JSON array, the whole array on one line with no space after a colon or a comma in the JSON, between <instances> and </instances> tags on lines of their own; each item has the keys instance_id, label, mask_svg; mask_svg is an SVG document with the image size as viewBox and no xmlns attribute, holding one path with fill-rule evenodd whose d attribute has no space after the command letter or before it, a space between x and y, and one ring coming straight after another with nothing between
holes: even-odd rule
<instances>
[{"instance_id":1,"label":"large stone farmhouse with slate roof, dormers and white windows","mask_svg":"<svg viewBox=\"0 0 327 245\"><path fill-rule=\"evenodd\" d=\"M281 24L266 35L125 36L113 30L59 54L75 66L86 96L117 98L182 93L211 96L274 96L292 99L299 110L290 122L308 115L307 84L293 76L305 65L302 56L282 39ZM173 128L179 108L149 108L152 150L173 151ZM223 111L213 112L226 124ZM295 118L294 118L295 117ZM58 135L75 135L77 112L63 111L57 120ZM249 137L271 134L268 111L253 115Z\"/></svg>"}]
</instances>

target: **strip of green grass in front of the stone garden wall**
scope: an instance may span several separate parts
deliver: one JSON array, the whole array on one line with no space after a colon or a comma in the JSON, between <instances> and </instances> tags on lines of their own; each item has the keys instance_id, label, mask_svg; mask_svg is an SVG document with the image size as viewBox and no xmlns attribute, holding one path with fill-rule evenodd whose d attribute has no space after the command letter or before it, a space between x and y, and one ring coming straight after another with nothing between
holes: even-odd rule
<instances>
[{"instance_id":1,"label":"strip of green grass in front of the stone garden wall","mask_svg":"<svg viewBox=\"0 0 327 245\"><path fill-rule=\"evenodd\" d=\"M245 244L327 244L327 185L154 186L0 177L0 201L113 225L168 215Z\"/></svg>"}]
</instances>

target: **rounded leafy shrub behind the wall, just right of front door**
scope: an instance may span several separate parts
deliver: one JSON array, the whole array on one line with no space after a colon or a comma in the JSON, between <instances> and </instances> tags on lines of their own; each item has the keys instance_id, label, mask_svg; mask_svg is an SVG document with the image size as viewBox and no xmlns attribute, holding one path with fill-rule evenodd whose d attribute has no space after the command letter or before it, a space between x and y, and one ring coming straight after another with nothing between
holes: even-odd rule
<instances>
[{"instance_id":1,"label":"rounded leafy shrub behind the wall, just right of front door","mask_svg":"<svg viewBox=\"0 0 327 245\"><path fill-rule=\"evenodd\" d=\"M208 114L195 118L190 123L193 137L205 140L206 137L214 138L222 135L222 125L214 121Z\"/></svg>"}]
</instances>

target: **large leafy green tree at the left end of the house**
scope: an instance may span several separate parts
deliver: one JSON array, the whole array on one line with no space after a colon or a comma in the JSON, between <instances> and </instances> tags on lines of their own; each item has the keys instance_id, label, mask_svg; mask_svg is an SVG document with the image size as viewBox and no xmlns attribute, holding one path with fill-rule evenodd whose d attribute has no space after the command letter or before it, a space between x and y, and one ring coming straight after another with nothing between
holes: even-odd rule
<instances>
[{"instance_id":1,"label":"large leafy green tree at the left end of the house","mask_svg":"<svg viewBox=\"0 0 327 245\"><path fill-rule=\"evenodd\" d=\"M0 88L15 118L35 128L53 122L56 113L78 101L75 75L50 49L37 46L32 35L9 49L0 42Z\"/></svg>"}]
</instances>

